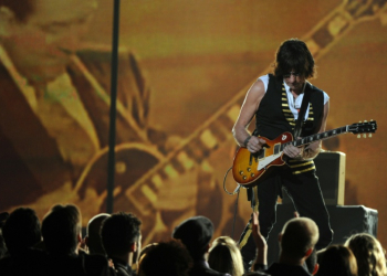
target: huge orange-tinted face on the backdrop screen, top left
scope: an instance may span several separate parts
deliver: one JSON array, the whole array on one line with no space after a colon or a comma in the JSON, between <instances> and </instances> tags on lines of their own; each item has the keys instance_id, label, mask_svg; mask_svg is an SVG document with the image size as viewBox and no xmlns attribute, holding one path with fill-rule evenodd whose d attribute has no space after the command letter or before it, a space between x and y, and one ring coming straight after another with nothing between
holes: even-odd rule
<instances>
[{"instance_id":1,"label":"huge orange-tinted face on the backdrop screen, top left","mask_svg":"<svg viewBox=\"0 0 387 276\"><path fill-rule=\"evenodd\" d=\"M65 71L96 8L97 0L35 0L27 22L10 18L2 44L29 81L51 81Z\"/></svg>"}]
</instances>

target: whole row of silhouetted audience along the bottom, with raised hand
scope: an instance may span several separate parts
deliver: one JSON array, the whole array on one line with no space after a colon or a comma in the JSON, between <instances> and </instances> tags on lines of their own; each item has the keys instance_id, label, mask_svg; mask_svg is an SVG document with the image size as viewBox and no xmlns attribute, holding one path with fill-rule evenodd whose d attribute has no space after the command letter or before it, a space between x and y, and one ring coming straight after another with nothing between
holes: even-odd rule
<instances>
[{"instance_id":1,"label":"whole row of silhouetted audience along the bottom, with raised hand","mask_svg":"<svg viewBox=\"0 0 387 276\"><path fill-rule=\"evenodd\" d=\"M18 208L0 213L0 275L387 275L385 251L366 233L351 236L345 245L331 245L318 252L317 259L318 229L306 217L285 223L279 235L279 261L268 268L268 244L258 213L252 215L258 251L253 269L245 272L231 237L219 236L210 245L213 225L205 216L182 221L172 232L174 240L142 248L142 222L132 213L95 215L82 240L82 216L75 205L54 205L42 224L34 210ZM81 250L82 241L90 254Z\"/></svg>"}]
</instances>

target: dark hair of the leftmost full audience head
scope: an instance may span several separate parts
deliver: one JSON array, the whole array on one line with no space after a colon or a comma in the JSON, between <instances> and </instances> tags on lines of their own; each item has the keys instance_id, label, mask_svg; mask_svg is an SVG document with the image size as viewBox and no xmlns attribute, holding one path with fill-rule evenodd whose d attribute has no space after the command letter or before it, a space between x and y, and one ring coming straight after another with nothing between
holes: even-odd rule
<instances>
[{"instance_id":1,"label":"dark hair of the leftmost full audience head","mask_svg":"<svg viewBox=\"0 0 387 276\"><path fill-rule=\"evenodd\" d=\"M7 219L2 235L10 254L31 247L42 238L40 221L34 210L18 208Z\"/></svg>"}]
</instances>

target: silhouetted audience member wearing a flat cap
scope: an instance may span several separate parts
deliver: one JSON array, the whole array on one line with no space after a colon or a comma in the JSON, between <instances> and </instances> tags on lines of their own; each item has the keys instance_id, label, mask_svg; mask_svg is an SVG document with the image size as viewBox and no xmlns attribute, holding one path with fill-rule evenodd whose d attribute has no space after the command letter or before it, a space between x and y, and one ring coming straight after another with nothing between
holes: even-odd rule
<instances>
[{"instance_id":1,"label":"silhouetted audience member wearing a flat cap","mask_svg":"<svg viewBox=\"0 0 387 276\"><path fill-rule=\"evenodd\" d=\"M206 261L212 235L212 222L206 216L192 216L175 227L172 237L180 240L186 245L194 259L190 276L229 275L211 269Z\"/></svg>"}]
</instances>

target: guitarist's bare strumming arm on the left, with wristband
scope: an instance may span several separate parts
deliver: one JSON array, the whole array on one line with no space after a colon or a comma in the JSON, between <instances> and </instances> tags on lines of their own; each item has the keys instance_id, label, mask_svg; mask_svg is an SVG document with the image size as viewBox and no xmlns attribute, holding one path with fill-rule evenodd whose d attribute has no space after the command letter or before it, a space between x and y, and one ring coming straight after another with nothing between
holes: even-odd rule
<instances>
[{"instance_id":1,"label":"guitarist's bare strumming arm on the left, with wristband","mask_svg":"<svg viewBox=\"0 0 387 276\"><path fill-rule=\"evenodd\" d=\"M264 85L261 79L258 79L248 91L238 119L232 128L232 134L240 147L247 147L249 151L257 152L265 142L263 139L251 136L247 130L251 119L254 117L261 99L265 94ZM250 139L248 139L251 137Z\"/></svg>"}]
</instances>

